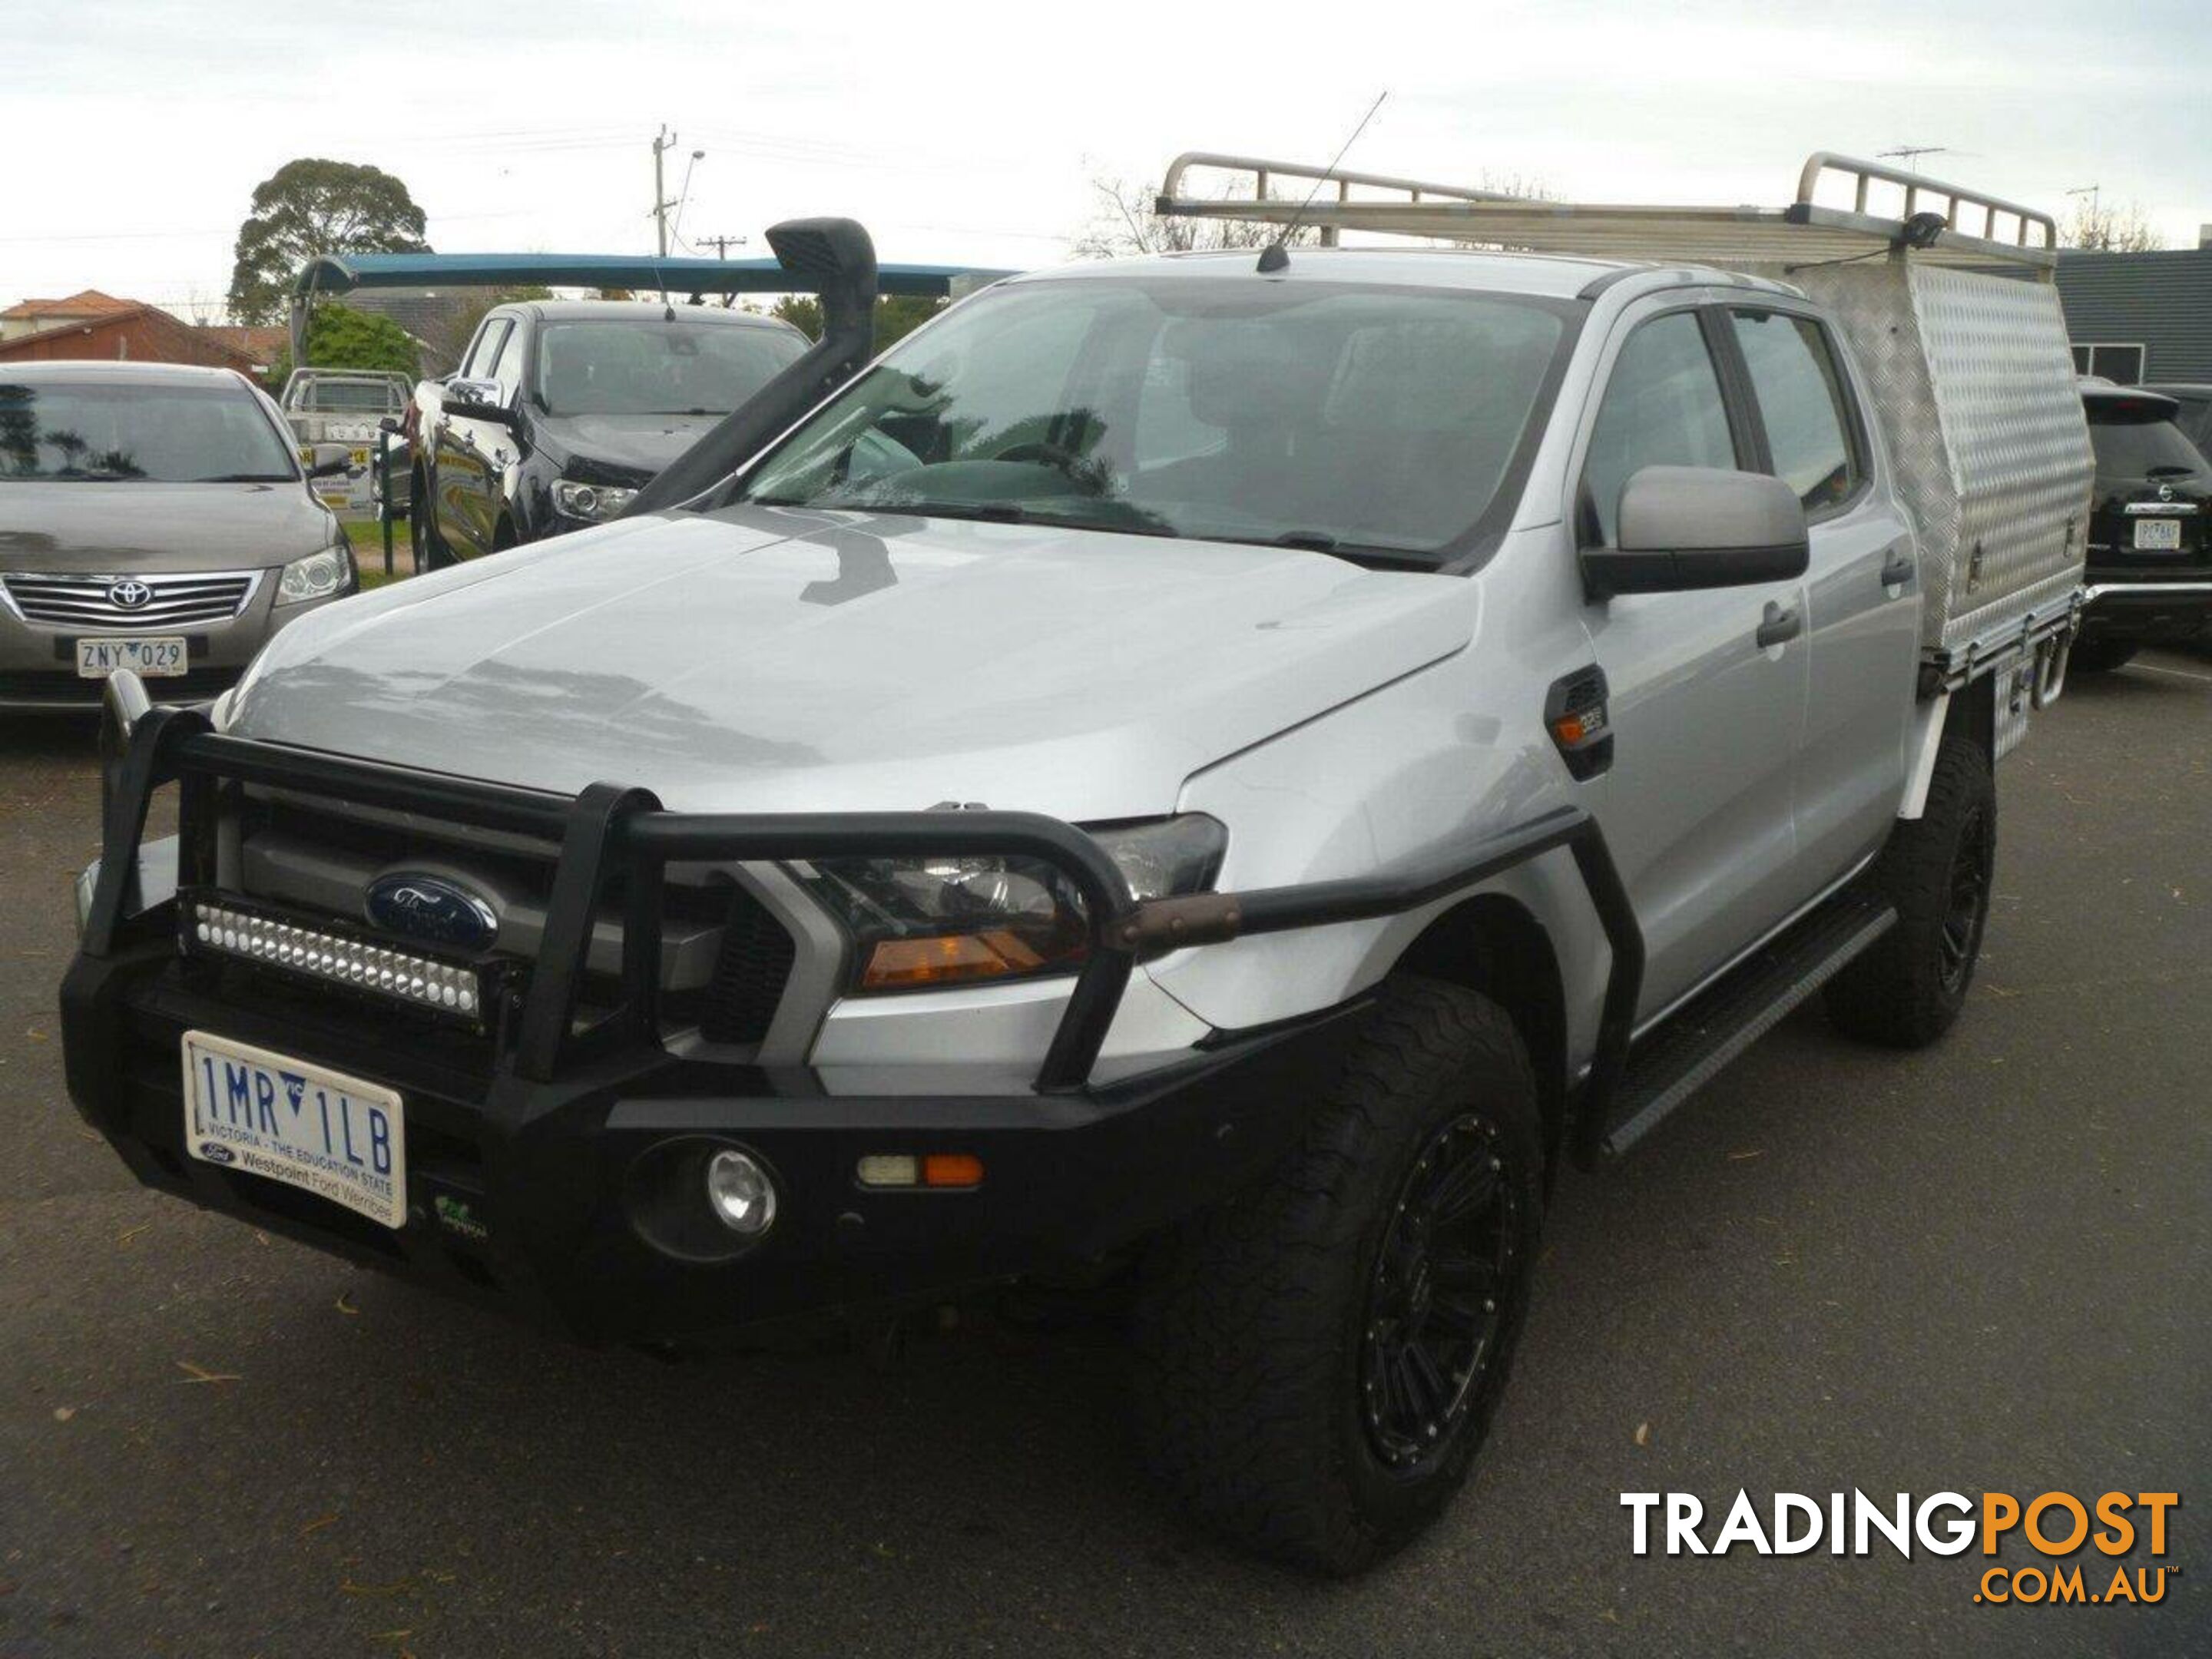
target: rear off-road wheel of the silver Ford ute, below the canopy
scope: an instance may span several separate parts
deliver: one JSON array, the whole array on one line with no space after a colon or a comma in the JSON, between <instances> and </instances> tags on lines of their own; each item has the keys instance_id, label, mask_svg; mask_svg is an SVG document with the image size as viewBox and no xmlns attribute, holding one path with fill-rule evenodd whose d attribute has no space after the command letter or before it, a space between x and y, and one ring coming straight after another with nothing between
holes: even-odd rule
<instances>
[{"instance_id":1,"label":"rear off-road wheel of the silver Ford ute, below the canopy","mask_svg":"<svg viewBox=\"0 0 2212 1659\"><path fill-rule=\"evenodd\" d=\"M1869 880L1898 925L1827 982L1829 1022L1858 1042L1922 1048L1958 1018L1973 984L1997 865L1997 785L1989 754L1960 737L1936 752L1927 810L1889 832Z\"/></svg>"}]
</instances>

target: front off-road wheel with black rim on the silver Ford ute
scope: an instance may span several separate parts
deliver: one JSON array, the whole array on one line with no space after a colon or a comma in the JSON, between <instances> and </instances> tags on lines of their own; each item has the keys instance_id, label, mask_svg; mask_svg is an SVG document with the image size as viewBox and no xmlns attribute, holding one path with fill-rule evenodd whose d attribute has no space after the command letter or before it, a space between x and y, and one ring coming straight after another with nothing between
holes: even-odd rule
<instances>
[{"instance_id":1,"label":"front off-road wheel with black rim on the silver Ford ute","mask_svg":"<svg viewBox=\"0 0 2212 1659\"><path fill-rule=\"evenodd\" d=\"M1152 1250L1130 1325L1137 1431L1201 1522L1347 1575L1451 1502L1528 1312L1540 1119L1528 1053L1498 1004L1394 978L1298 1146ZM1447 1197L1469 1208L1449 1219ZM1447 1380L1458 1398L1431 1413L1433 1440L1407 1391L1420 1380L1383 1376L1429 1338L1429 1376L1442 1360L1451 1378L1460 1356L1467 1376ZM1416 1429L1411 1444L1398 1429Z\"/></svg>"}]
</instances>

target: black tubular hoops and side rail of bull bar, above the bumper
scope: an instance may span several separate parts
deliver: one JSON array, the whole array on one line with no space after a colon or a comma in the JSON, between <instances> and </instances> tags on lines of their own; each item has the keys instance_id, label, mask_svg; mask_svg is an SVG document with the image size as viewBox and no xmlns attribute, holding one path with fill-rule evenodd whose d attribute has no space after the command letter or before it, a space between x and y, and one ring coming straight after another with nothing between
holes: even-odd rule
<instances>
[{"instance_id":1,"label":"black tubular hoops and side rail of bull bar, above the bumper","mask_svg":"<svg viewBox=\"0 0 2212 1659\"><path fill-rule=\"evenodd\" d=\"M1091 945L1053 1031L1037 1093L1088 1086L1121 991L1137 962L1248 933L1400 916L1566 847L1613 947L1597 1046L1573 1124L1575 1157L1595 1159L1604 1106L1628 1057L1644 978L1644 936L1597 821L1557 807L1489 836L1464 854L1402 874L1137 900L1104 847L1075 825L1033 812L668 812L639 787L593 783L575 796L418 772L281 743L226 737L197 708L150 708L106 770L100 876L80 938L106 958L133 938L135 883L155 790L179 785L177 887L215 883L215 787L299 790L356 805L422 814L557 843L544 936L529 973L518 1035L502 1064L526 1082L553 1082L575 1051L655 1046L661 947L661 876L670 863L785 858L1022 856L1062 869L1084 898ZM622 995L573 1031L593 916L619 883Z\"/></svg>"}]
</instances>

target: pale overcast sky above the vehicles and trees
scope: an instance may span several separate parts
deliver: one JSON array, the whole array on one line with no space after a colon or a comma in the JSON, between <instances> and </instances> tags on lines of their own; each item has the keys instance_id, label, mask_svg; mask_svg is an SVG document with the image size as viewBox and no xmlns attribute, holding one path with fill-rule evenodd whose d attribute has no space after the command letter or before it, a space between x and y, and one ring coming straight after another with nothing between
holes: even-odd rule
<instances>
[{"instance_id":1,"label":"pale overcast sky above the vehicles and trees","mask_svg":"<svg viewBox=\"0 0 2212 1659\"><path fill-rule=\"evenodd\" d=\"M2212 221L2203 0L1809 4L46 7L0 49L0 303L104 288L219 310L259 179L372 161L442 252L650 252L659 124L681 237L845 212L885 259L1042 265L1091 179L1183 148L1520 175L1588 201L1778 206L1809 150L2066 206L2168 246Z\"/></svg>"}]
</instances>

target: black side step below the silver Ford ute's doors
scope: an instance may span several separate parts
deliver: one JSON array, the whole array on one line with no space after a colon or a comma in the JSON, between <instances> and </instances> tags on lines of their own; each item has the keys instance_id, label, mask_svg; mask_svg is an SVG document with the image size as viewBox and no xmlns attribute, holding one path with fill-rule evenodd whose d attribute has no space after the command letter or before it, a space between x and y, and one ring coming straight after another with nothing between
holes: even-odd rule
<instances>
[{"instance_id":1,"label":"black side step below the silver Ford ute's doors","mask_svg":"<svg viewBox=\"0 0 2212 1659\"><path fill-rule=\"evenodd\" d=\"M1604 1150L1619 1157L1703 1088L1874 940L1898 925L1882 898L1847 889L1747 956L1628 1055Z\"/></svg>"}]
</instances>

